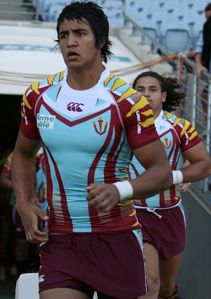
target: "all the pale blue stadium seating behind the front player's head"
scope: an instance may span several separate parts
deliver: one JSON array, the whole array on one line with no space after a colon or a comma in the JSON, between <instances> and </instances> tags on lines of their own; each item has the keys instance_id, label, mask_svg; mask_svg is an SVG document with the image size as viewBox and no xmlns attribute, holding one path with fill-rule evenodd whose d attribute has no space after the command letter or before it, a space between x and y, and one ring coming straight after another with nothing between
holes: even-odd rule
<instances>
[{"instance_id":1,"label":"all the pale blue stadium seating behind the front player's head","mask_svg":"<svg viewBox=\"0 0 211 299\"><path fill-rule=\"evenodd\" d=\"M56 22L65 0L33 0L44 21ZM124 25L123 10L170 52L186 53L196 45L209 0L96 0L110 25ZM145 39L144 42L151 41Z\"/></svg>"}]
</instances>

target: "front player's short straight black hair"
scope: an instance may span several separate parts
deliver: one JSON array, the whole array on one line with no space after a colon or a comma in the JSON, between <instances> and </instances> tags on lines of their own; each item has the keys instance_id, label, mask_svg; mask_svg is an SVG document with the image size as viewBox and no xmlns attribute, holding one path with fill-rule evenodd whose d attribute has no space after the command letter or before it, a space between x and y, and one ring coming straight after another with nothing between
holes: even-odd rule
<instances>
[{"instance_id":1,"label":"front player's short straight black hair","mask_svg":"<svg viewBox=\"0 0 211 299\"><path fill-rule=\"evenodd\" d=\"M57 19L56 30L59 33L59 25L63 21L77 20L79 22L88 22L95 37L95 45L101 48L102 61L107 63L108 58L112 55L110 47L112 42L109 39L109 23L108 18L103 13L101 6L98 6L93 1L73 1L71 4L65 6ZM59 37L56 42L59 42Z\"/></svg>"}]
</instances>

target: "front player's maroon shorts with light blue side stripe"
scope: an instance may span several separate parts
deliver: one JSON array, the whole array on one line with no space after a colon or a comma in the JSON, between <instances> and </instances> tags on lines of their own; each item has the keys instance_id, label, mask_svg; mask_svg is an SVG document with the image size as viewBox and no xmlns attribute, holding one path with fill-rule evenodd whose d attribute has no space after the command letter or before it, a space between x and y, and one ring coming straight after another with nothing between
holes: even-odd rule
<instances>
[{"instance_id":1,"label":"front player's maroon shorts with light blue side stripe","mask_svg":"<svg viewBox=\"0 0 211 299\"><path fill-rule=\"evenodd\" d=\"M118 299L146 294L140 229L115 234L51 234L39 249L40 292L90 286Z\"/></svg>"}]
</instances>

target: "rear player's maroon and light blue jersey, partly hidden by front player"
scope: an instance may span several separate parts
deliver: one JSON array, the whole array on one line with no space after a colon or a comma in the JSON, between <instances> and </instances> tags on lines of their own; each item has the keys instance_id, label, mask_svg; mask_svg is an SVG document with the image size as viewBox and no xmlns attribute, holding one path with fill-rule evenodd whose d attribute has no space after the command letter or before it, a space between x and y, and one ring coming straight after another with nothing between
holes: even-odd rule
<instances>
[{"instance_id":1,"label":"rear player's maroon and light blue jersey, partly hidden by front player","mask_svg":"<svg viewBox=\"0 0 211 299\"><path fill-rule=\"evenodd\" d=\"M181 166L184 163L184 151L196 146L201 141L196 129L188 120L184 120L184 125L182 125L181 118L163 110L155 119L155 127L165 148L172 170L181 170ZM145 171L135 157L132 159L129 170L132 179ZM136 200L135 206L136 208L172 208L179 205L180 201L179 185L176 184L151 198Z\"/></svg>"}]
</instances>

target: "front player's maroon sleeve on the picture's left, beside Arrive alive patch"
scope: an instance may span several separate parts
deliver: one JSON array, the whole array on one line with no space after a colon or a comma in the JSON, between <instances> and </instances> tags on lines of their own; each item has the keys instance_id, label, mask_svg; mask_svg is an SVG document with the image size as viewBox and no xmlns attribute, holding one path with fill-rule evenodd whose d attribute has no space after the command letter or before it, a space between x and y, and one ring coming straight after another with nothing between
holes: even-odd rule
<instances>
[{"instance_id":1,"label":"front player's maroon sleeve on the picture's left, beside Arrive alive patch","mask_svg":"<svg viewBox=\"0 0 211 299\"><path fill-rule=\"evenodd\" d=\"M37 121L34 116L34 106L37 102L37 94L32 89L27 89L21 102L20 131L23 135L32 140L40 139L37 130Z\"/></svg>"}]
</instances>

